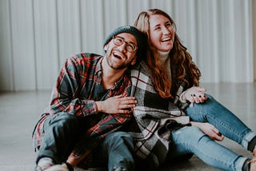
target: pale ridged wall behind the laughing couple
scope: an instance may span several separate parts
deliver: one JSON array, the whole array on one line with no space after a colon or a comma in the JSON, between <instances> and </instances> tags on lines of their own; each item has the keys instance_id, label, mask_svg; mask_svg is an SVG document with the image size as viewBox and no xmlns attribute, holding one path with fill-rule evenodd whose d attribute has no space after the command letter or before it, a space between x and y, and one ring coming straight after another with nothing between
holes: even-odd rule
<instances>
[{"instance_id":1,"label":"pale ridged wall behind the laughing couple","mask_svg":"<svg viewBox=\"0 0 256 171\"><path fill-rule=\"evenodd\" d=\"M66 58L103 54L118 26L165 10L201 82L254 82L253 0L1 0L0 90L51 89ZM255 6L255 5L254 5ZM253 31L254 30L254 31Z\"/></svg>"}]
</instances>

